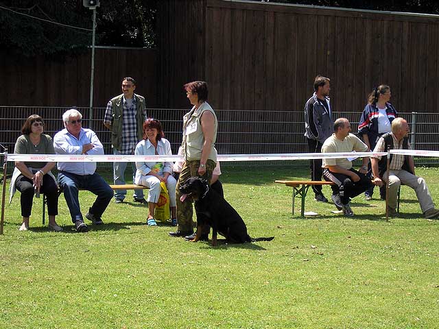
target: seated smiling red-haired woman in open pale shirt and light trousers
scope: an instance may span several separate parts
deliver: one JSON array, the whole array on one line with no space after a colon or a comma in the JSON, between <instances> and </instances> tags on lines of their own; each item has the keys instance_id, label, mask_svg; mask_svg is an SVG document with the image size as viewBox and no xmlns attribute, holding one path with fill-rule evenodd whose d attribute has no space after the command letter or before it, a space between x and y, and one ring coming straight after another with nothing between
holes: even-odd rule
<instances>
[{"instance_id":1,"label":"seated smiling red-haired woman in open pale shirt and light trousers","mask_svg":"<svg viewBox=\"0 0 439 329\"><path fill-rule=\"evenodd\" d=\"M164 138L160 121L152 118L143 123L143 140L140 141L134 154L143 156L172 155L171 144ZM172 177L172 162L136 162L136 178L134 183L150 188L148 195L147 225L156 226L154 209L158 203L161 192L161 182L165 182L169 193L169 205L171 206L171 221L176 223L176 185L177 181Z\"/></svg>"}]
</instances>

